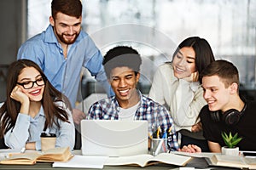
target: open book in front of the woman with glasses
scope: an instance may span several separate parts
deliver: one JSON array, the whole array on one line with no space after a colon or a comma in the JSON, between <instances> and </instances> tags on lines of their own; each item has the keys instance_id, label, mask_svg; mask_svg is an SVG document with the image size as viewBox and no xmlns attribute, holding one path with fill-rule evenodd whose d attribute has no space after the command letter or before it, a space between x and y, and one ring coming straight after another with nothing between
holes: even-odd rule
<instances>
[{"instance_id":1,"label":"open book in front of the woman with glasses","mask_svg":"<svg viewBox=\"0 0 256 170\"><path fill-rule=\"evenodd\" d=\"M32 165L37 161L68 161L72 157L69 147L54 148L51 150L45 150L44 152L27 152L27 153L12 153L8 158L0 161L0 164L26 164Z\"/></svg>"}]
</instances>

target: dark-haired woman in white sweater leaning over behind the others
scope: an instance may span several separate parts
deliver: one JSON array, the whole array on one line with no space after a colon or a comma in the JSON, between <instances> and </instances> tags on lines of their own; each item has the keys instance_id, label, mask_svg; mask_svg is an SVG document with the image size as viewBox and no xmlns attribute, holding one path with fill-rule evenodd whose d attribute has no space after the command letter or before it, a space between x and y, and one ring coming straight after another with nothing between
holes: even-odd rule
<instances>
[{"instance_id":1,"label":"dark-haired woman in white sweater leaning over behind the others","mask_svg":"<svg viewBox=\"0 0 256 170\"><path fill-rule=\"evenodd\" d=\"M199 119L201 108L207 105L199 75L214 60L206 39L188 37L178 45L172 61L155 72L149 97L170 111L174 127L182 135L181 147L196 144L208 151Z\"/></svg>"}]
</instances>

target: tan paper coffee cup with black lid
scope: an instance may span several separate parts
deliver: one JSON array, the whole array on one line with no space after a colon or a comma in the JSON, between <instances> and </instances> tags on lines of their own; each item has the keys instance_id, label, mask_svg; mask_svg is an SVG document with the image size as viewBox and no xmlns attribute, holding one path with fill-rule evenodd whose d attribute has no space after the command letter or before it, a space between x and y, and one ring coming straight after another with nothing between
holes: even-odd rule
<instances>
[{"instance_id":1,"label":"tan paper coffee cup with black lid","mask_svg":"<svg viewBox=\"0 0 256 170\"><path fill-rule=\"evenodd\" d=\"M56 135L55 133L41 133L41 150L49 150L55 148Z\"/></svg>"}]
</instances>

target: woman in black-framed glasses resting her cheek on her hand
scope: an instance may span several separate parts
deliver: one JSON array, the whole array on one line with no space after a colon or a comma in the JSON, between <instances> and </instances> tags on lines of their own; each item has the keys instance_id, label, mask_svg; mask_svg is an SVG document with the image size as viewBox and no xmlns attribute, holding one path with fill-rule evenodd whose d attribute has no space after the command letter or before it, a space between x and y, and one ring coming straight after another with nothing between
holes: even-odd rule
<instances>
[{"instance_id":1,"label":"woman in black-framed glasses resting her cheek on her hand","mask_svg":"<svg viewBox=\"0 0 256 170\"><path fill-rule=\"evenodd\" d=\"M0 139L12 149L41 150L41 133L55 133L55 147L74 146L72 108L37 64L20 59L9 66L7 99L0 108Z\"/></svg>"}]
</instances>

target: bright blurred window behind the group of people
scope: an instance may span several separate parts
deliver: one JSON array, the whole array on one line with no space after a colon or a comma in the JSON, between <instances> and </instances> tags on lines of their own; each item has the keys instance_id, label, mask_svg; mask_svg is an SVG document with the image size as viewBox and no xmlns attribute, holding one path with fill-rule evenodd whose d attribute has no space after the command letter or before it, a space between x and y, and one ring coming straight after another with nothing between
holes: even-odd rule
<instances>
[{"instance_id":1,"label":"bright blurred window behind the group of people","mask_svg":"<svg viewBox=\"0 0 256 170\"><path fill-rule=\"evenodd\" d=\"M28 0L28 35L49 24L51 0ZM177 44L204 37L217 59L238 67L243 88L255 89L256 0L93 0L85 1L83 28L105 54L117 44L143 54L143 82L172 59ZM153 66L148 66L153 65Z\"/></svg>"}]
</instances>

